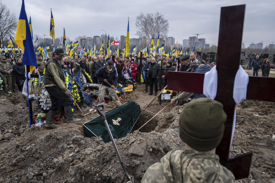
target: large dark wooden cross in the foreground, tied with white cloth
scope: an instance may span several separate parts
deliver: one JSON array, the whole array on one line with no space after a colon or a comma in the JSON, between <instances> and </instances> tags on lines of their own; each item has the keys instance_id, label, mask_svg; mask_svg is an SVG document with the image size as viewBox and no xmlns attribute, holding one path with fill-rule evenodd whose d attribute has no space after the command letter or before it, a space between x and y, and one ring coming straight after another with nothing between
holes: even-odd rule
<instances>
[{"instance_id":1,"label":"large dark wooden cross in the foreground, tied with white cloth","mask_svg":"<svg viewBox=\"0 0 275 183\"><path fill-rule=\"evenodd\" d=\"M218 59L217 59L217 95L215 100L223 104L227 114L225 130L221 143L216 148L223 166L233 172L236 180L246 178L249 175L252 152L229 158L235 101L233 99L233 87L235 75L239 69L241 55L241 40L243 33L243 20L245 5L229 6L221 8L219 27ZM184 80L178 78L189 78ZM168 71L168 89L203 94L204 73ZM275 102L274 85L271 77L249 77L247 85L247 99L265 100ZM259 95L265 91L264 95Z\"/></svg>"}]
</instances>

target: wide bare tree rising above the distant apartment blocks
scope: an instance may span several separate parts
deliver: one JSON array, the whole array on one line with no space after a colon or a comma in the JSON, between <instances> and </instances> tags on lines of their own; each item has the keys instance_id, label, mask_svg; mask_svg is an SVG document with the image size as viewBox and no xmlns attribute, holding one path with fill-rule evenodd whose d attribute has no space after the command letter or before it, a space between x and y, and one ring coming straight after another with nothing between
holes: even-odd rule
<instances>
[{"instance_id":1,"label":"wide bare tree rising above the distant apartment blocks","mask_svg":"<svg viewBox=\"0 0 275 183\"><path fill-rule=\"evenodd\" d=\"M158 11L146 15L141 12L135 19L135 27L137 28L137 35L146 37L146 41L151 42L153 35L154 39L158 38L158 32L160 32L160 37L167 37L169 23L164 15Z\"/></svg>"}]
</instances>

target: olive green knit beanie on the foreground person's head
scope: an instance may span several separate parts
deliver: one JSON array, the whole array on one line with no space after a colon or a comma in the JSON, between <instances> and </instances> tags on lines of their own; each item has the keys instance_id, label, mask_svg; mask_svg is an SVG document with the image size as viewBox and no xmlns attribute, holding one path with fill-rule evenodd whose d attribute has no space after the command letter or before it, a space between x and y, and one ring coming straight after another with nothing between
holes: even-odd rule
<instances>
[{"instance_id":1,"label":"olive green knit beanie on the foreground person's head","mask_svg":"<svg viewBox=\"0 0 275 183\"><path fill-rule=\"evenodd\" d=\"M227 115L220 102L199 98L188 103L180 113L179 136L197 151L209 151L223 137Z\"/></svg>"}]
</instances>

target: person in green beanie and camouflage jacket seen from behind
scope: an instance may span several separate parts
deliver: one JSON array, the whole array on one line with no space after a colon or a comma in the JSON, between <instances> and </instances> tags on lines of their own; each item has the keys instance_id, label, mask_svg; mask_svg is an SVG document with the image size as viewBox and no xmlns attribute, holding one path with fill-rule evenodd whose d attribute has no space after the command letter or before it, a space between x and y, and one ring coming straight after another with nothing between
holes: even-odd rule
<instances>
[{"instance_id":1,"label":"person in green beanie and camouflage jacket seen from behind","mask_svg":"<svg viewBox=\"0 0 275 183\"><path fill-rule=\"evenodd\" d=\"M179 136L185 142L185 150L172 150L151 165L142 183L233 183L233 173L219 163L215 154L226 118L220 102L209 98L189 102L179 120Z\"/></svg>"}]
</instances>

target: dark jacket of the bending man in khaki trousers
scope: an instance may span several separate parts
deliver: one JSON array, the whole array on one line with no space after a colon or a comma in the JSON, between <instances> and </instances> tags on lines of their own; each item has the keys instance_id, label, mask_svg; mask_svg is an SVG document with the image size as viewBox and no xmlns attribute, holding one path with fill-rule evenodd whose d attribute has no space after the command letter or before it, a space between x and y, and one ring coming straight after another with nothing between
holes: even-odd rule
<instances>
[{"instance_id":1,"label":"dark jacket of the bending man in khaki trousers","mask_svg":"<svg viewBox=\"0 0 275 183\"><path fill-rule=\"evenodd\" d=\"M99 84L103 84L105 86L111 87L110 85L115 86L117 83L117 71L115 68L112 68L112 71L107 71L107 67L101 67L95 72L95 77L98 79ZM107 79L108 83L104 82L104 79Z\"/></svg>"}]
</instances>

